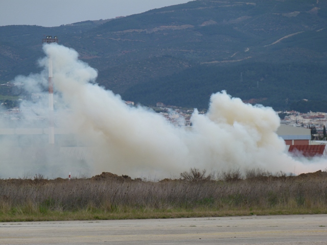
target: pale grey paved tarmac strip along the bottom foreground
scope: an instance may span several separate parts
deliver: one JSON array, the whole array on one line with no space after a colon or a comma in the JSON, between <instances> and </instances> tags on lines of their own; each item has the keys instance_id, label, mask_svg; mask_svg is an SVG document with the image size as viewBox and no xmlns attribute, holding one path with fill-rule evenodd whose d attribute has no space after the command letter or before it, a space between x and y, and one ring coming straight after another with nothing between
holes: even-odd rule
<instances>
[{"instance_id":1,"label":"pale grey paved tarmac strip along the bottom foreground","mask_svg":"<svg viewBox=\"0 0 327 245\"><path fill-rule=\"evenodd\" d=\"M327 215L9 222L0 244L327 244Z\"/></svg>"}]
</instances>

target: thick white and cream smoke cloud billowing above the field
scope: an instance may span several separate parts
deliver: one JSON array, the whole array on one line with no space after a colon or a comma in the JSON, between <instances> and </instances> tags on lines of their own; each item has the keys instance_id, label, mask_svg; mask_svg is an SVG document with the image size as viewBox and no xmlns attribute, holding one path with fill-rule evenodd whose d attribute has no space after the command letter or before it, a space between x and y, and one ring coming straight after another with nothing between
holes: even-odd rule
<instances>
[{"instance_id":1,"label":"thick white and cream smoke cloud billowing above the field","mask_svg":"<svg viewBox=\"0 0 327 245\"><path fill-rule=\"evenodd\" d=\"M296 169L299 174L326 166L321 159L303 163L285 153L284 140L275 133L279 117L271 108L244 104L222 91L211 96L207 114L194 111L192 130L176 128L147 108L127 106L119 95L94 83L97 71L79 61L71 48L45 44L43 50L46 58L40 64L45 70L49 57L53 60L58 125L74 132L92 156L83 166L72 160L65 171L164 178L179 176L190 167ZM44 85L46 72L41 75L26 81Z\"/></svg>"}]
</instances>

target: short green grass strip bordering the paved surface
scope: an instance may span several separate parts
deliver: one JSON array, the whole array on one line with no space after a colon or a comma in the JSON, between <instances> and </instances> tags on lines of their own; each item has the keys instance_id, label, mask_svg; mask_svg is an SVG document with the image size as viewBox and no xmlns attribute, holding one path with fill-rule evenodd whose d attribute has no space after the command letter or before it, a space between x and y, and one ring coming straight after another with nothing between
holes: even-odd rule
<instances>
[{"instance_id":1,"label":"short green grass strip bordering the paved surface","mask_svg":"<svg viewBox=\"0 0 327 245\"><path fill-rule=\"evenodd\" d=\"M210 208L183 209L132 209L108 212L101 209L82 209L78 211L27 210L15 208L11 212L1 213L0 222L28 222L28 221L63 221L63 220L115 220L115 219L148 219L148 218L189 218L189 217L225 217L225 216L253 216L253 215L290 215L290 214L325 214L327 208L268 208L254 209L224 209Z\"/></svg>"}]
</instances>

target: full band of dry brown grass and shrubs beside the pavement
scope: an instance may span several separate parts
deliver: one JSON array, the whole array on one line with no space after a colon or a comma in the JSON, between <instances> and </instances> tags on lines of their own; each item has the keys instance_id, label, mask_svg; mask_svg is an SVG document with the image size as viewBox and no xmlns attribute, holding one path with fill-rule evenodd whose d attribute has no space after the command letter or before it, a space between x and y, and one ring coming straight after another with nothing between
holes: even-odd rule
<instances>
[{"instance_id":1,"label":"full band of dry brown grass and shrubs beside the pavement","mask_svg":"<svg viewBox=\"0 0 327 245\"><path fill-rule=\"evenodd\" d=\"M0 180L0 221L327 213L326 172L277 177L257 169L242 179L236 169L221 174L224 181L198 169L182 174L159 182L109 173Z\"/></svg>"}]
</instances>

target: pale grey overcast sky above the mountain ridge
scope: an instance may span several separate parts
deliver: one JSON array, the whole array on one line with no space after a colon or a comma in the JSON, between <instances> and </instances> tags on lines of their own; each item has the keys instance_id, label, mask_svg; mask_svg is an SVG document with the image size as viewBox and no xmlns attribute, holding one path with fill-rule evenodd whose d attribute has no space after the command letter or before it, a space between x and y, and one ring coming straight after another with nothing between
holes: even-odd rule
<instances>
[{"instance_id":1,"label":"pale grey overcast sky above the mountain ridge","mask_svg":"<svg viewBox=\"0 0 327 245\"><path fill-rule=\"evenodd\" d=\"M84 20L109 19L191 0L0 0L0 26L57 27Z\"/></svg>"}]
</instances>

